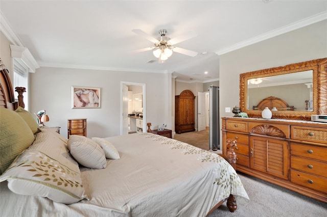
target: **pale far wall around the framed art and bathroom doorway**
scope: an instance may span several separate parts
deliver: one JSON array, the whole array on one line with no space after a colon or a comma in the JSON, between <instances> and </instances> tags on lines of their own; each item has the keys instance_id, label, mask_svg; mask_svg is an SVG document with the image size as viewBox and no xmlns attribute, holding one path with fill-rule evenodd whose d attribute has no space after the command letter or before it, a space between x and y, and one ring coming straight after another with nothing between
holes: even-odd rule
<instances>
[{"instance_id":1,"label":"pale far wall around the framed art and bathroom doorway","mask_svg":"<svg viewBox=\"0 0 327 217\"><path fill-rule=\"evenodd\" d=\"M87 118L87 137L110 137L120 134L121 83L146 85L145 121L151 129L166 123L171 128L171 96L167 84L170 74L116 72L84 69L42 67L31 73L31 111L46 110L50 116L47 126L60 126L60 133L67 135L67 119ZM100 87L101 108L72 109L72 86ZM169 97L170 98L170 97ZM170 114L170 113L169 113Z\"/></svg>"}]
</instances>

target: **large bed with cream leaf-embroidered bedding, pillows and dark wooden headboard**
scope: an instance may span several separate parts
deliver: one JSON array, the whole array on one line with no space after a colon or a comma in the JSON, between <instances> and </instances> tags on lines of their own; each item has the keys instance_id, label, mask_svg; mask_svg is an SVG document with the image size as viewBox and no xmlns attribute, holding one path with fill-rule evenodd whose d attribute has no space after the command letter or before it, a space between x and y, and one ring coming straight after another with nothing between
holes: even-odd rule
<instances>
[{"instance_id":1,"label":"large bed with cream leaf-embroidered bedding, pillows and dark wooden headboard","mask_svg":"<svg viewBox=\"0 0 327 217\"><path fill-rule=\"evenodd\" d=\"M4 68L0 88L3 216L206 216L249 202L215 153L152 133L68 140L35 126L24 89L13 102Z\"/></svg>"}]
</instances>

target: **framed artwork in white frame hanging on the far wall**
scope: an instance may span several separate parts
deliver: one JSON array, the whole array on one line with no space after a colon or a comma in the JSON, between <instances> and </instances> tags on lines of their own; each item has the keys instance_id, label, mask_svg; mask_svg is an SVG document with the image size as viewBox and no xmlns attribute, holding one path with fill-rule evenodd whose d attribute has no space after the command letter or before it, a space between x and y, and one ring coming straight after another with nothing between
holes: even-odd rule
<instances>
[{"instance_id":1,"label":"framed artwork in white frame hanging on the far wall","mask_svg":"<svg viewBox=\"0 0 327 217\"><path fill-rule=\"evenodd\" d=\"M72 108L100 108L101 89L72 87Z\"/></svg>"}]
</instances>

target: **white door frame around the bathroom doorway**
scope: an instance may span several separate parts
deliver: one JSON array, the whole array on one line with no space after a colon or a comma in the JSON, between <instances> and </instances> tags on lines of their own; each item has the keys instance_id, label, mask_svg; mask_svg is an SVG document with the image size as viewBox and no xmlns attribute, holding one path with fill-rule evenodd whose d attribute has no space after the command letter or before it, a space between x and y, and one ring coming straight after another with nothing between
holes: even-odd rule
<instances>
[{"instance_id":1,"label":"white door frame around the bathroom doorway","mask_svg":"<svg viewBox=\"0 0 327 217\"><path fill-rule=\"evenodd\" d=\"M147 117L147 110L146 110L146 84L144 83L135 83L135 82L121 82L121 135L124 133L124 117L123 117L123 112L124 112L124 95L123 95L123 86L129 86L129 85L135 85L135 86L142 86L142 92L143 92L143 132L146 132L146 117Z\"/></svg>"}]
</instances>

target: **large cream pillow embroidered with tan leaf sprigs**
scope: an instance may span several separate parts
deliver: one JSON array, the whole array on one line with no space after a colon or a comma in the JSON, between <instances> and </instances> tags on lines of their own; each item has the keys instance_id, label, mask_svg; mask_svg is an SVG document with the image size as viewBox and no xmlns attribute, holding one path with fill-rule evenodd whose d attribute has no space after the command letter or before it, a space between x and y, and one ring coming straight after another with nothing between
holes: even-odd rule
<instances>
[{"instance_id":1,"label":"large cream pillow embroidered with tan leaf sprigs","mask_svg":"<svg viewBox=\"0 0 327 217\"><path fill-rule=\"evenodd\" d=\"M87 198L80 169L66 144L46 131L39 132L34 143L0 176L0 182L5 180L8 188L20 195L64 204Z\"/></svg>"}]
</instances>

